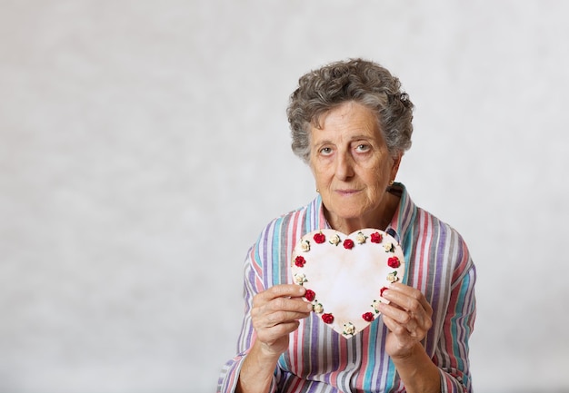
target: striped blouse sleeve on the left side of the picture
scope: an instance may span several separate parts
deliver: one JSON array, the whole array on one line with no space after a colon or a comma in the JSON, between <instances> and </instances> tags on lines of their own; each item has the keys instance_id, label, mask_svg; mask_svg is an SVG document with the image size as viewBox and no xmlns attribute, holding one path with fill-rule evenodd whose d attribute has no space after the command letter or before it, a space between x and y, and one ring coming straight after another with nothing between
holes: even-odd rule
<instances>
[{"instance_id":1,"label":"striped blouse sleeve on the left side of the picture","mask_svg":"<svg viewBox=\"0 0 569 393\"><path fill-rule=\"evenodd\" d=\"M251 345L255 340L255 329L251 323L251 308L253 307L253 297L255 294L265 290L263 278L263 267L255 260L257 254L256 245L251 248L245 260L245 284L244 284L244 299L245 299L245 315L241 327L241 333L237 341L237 355L225 363L222 368L221 375L217 381L217 393L233 393L237 387L237 380L239 373L243 366ZM271 383L271 388L268 393L274 393L275 378Z\"/></svg>"}]
</instances>

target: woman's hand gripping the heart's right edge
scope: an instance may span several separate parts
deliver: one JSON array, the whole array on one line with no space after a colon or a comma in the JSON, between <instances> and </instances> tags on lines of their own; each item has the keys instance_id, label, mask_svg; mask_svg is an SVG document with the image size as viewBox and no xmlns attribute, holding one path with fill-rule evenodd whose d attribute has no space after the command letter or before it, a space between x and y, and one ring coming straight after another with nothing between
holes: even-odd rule
<instances>
[{"instance_id":1,"label":"woman's hand gripping the heart's right edge","mask_svg":"<svg viewBox=\"0 0 569 393\"><path fill-rule=\"evenodd\" d=\"M383 297L390 301L380 305L385 326L390 330L385 351L392 358L404 358L433 326L433 308L420 290L399 282L384 290Z\"/></svg>"}]
</instances>

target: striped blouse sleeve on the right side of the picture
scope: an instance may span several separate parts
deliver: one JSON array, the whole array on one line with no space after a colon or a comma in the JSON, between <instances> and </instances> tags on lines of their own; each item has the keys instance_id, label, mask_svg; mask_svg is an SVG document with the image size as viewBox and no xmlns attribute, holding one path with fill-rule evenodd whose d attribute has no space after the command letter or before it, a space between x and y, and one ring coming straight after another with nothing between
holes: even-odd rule
<instances>
[{"instance_id":1,"label":"striped blouse sleeve on the right side of the picture","mask_svg":"<svg viewBox=\"0 0 569 393\"><path fill-rule=\"evenodd\" d=\"M464 255L454 270L453 283L442 338L434 354L441 372L441 392L471 393L468 339L474 329L476 270L463 244Z\"/></svg>"}]
</instances>

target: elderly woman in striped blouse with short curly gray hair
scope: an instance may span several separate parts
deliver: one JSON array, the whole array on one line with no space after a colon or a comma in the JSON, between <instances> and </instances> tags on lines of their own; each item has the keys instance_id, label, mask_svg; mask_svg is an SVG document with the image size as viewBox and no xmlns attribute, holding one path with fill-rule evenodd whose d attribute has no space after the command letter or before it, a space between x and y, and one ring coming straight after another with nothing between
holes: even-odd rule
<instances>
[{"instance_id":1,"label":"elderly woman in striped blouse with short curly gray hair","mask_svg":"<svg viewBox=\"0 0 569 393\"><path fill-rule=\"evenodd\" d=\"M362 59L300 78L287 114L318 195L270 222L249 251L238 354L219 392L471 391L473 261L460 234L394 182L413 107L397 78ZM305 233L364 228L394 235L406 272L384 290L381 317L345 339L311 312L289 265Z\"/></svg>"}]
</instances>

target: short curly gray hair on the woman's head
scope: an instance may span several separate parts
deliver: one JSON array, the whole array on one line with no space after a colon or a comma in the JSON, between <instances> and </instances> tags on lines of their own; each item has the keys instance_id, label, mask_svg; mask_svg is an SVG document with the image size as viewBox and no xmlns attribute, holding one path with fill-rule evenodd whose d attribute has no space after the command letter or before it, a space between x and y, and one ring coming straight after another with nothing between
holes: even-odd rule
<instances>
[{"instance_id":1,"label":"short curly gray hair on the woman's head","mask_svg":"<svg viewBox=\"0 0 569 393\"><path fill-rule=\"evenodd\" d=\"M350 59L324 65L298 80L286 109L294 154L309 162L311 126L319 127L324 113L349 101L375 114L392 155L411 147L414 105L401 91L399 79L379 64Z\"/></svg>"}]
</instances>

